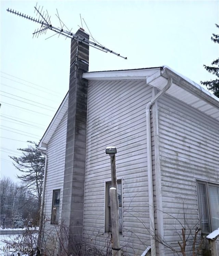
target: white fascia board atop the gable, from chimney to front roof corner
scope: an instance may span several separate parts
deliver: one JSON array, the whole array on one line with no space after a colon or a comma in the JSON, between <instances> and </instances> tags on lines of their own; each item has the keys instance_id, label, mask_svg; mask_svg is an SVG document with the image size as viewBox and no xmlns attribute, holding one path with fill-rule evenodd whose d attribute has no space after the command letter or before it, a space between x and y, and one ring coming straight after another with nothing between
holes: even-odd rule
<instances>
[{"instance_id":1,"label":"white fascia board atop the gable, from chimney to front roof corner","mask_svg":"<svg viewBox=\"0 0 219 256\"><path fill-rule=\"evenodd\" d=\"M83 78L87 80L145 80L161 68L138 69L138 70L119 70L119 71L100 71L83 73Z\"/></svg>"}]
</instances>

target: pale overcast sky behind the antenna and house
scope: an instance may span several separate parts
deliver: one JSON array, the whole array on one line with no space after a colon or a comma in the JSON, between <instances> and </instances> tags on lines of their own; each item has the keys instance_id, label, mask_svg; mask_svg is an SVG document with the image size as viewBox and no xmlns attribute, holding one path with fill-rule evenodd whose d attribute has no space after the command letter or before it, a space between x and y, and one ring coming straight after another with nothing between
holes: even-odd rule
<instances>
[{"instance_id":1,"label":"pale overcast sky behind the antenna and house","mask_svg":"<svg viewBox=\"0 0 219 256\"><path fill-rule=\"evenodd\" d=\"M9 155L26 141L39 142L68 91L70 39L33 38L40 26L6 10L35 17L35 1L1 1L1 176L16 180ZM168 65L191 80L214 78L204 68L218 57L219 1L38 1L75 33L79 26L107 48L127 57L90 48L89 71ZM82 20L83 18L88 26ZM79 26L78 26L79 25ZM48 38L52 36L51 38ZM48 39L46 39L48 38ZM46 39L46 40L45 40ZM104 154L104 152L103 152Z\"/></svg>"}]
</instances>

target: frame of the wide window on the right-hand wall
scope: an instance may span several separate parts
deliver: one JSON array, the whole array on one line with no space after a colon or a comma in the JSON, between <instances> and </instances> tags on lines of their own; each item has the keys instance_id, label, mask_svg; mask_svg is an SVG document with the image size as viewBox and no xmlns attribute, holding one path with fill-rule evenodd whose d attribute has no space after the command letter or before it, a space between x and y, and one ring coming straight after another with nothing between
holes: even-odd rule
<instances>
[{"instance_id":1,"label":"frame of the wide window on the right-hand wall","mask_svg":"<svg viewBox=\"0 0 219 256\"><path fill-rule=\"evenodd\" d=\"M202 234L209 234L212 231L212 211L211 211L211 203L210 203L210 194L209 194L209 186L215 186L217 188L219 188L219 184L217 183L211 183L208 181L204 181L204 180L196 180L196 192L197 192L197 204L198 204L198 216L199 216L199 224L200 227L202 228L202 221L201 221L201 199L200 199L200 195L198 195L198 184L203 184L205 185L205 193L206 193L206 204L207 204L207 215L208 215L208 225L209 225L209 232L206 231L202 231Z\"/></svg>"}]
</instances>

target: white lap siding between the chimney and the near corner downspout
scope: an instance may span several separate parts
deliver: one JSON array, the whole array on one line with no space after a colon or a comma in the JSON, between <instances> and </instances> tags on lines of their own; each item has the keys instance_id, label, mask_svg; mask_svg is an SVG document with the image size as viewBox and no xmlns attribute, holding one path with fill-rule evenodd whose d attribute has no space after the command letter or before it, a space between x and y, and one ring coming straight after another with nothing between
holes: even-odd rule
<instances>
[{"instance_id":1,"label":"white lap siding between the chimney and the near corner downspout","mask_svg":"<svg viewBox=\"0 0 219 256\"><path fill-rule=\"evenodd\" d=\"M141 254L150 244L146 173L145 81L92 81L88 93L84 236L104 246L105 182L111 180L107 146L116 146L117 178L123 179L124 236L121 246Z\"/></svg>"}]
</instances>

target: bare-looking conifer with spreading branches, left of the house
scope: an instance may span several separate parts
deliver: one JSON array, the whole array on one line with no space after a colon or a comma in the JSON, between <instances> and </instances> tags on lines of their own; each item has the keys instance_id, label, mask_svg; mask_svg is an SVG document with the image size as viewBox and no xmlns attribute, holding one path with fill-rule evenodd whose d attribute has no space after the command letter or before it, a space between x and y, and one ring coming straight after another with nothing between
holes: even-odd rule
<instances>
[{"instance_id":1,"label":"bare-looking conifer with spreading branches, left of the house","mask_svg":"<svg viewBox=\"0 0 219 256\"><path fill-rule=\"evenodd\" d=\"M10 156L10 158L14 160L14 166L21 172L21 175L17 175L17 178L21 179L25 188L37 198L37 208L40 209L45 158L38 151L35 142L28 142L32 145L27 148L18 148L22 151L23 156Z\"/></svg>"}]
</instances>

